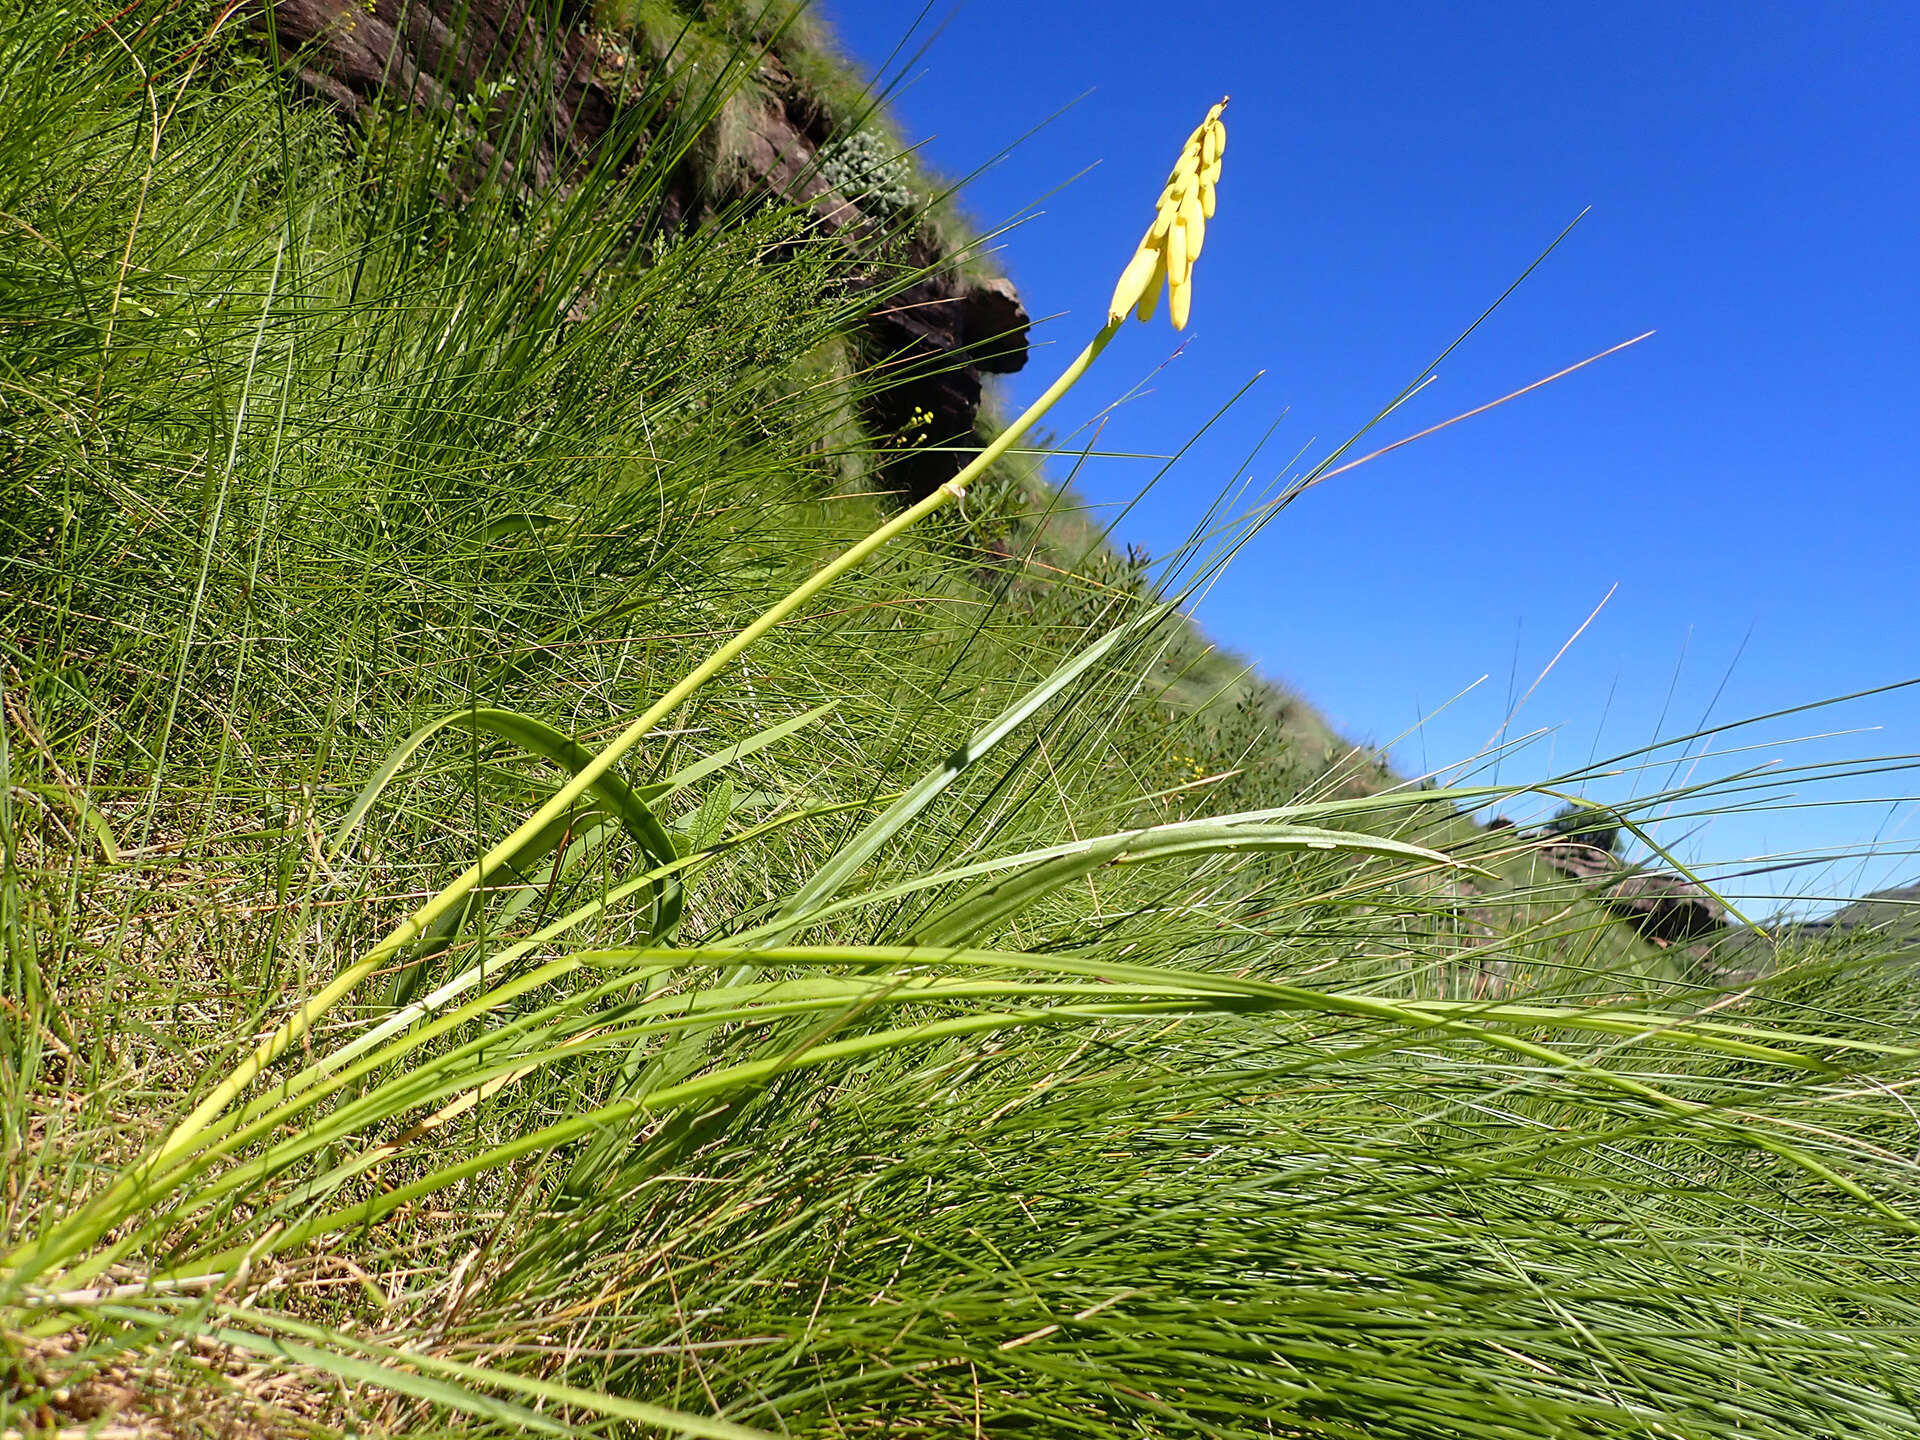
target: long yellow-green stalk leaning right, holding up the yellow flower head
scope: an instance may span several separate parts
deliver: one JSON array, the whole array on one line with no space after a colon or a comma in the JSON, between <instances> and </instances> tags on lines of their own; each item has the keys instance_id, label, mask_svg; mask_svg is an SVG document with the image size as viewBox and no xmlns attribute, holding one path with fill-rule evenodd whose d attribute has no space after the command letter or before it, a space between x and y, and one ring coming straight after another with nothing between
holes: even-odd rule
<instances>
[{"instance_id":1,"label":"long yellow-green stalk leaning right, holding up the yellow flower head","mask_svg":"<svg viewBox=\"0 0 1920 1440\"><path fill-rule=\"evenodd\" d=\"M1100 351L1106 349L1106 344L1114 338L1117 328L1119 321L1108 321L1108 324L1102 326L1091 342L1087 342L1087 348L1073 357L1073 363L1060 372L1060 378L1046 388L1046 394L1027 405L1020 419L995 436L993 442L989 442L979 455L975 455L966 468L960 470L960 474L920 503L900 511L897 516L874 530L874 534L851 545L818 572L795 586L791 593L780 599L758 620L720 645L720 649L708 655L699 666L689 670L680 684L655 701L645 714L634 720L634 724L630 724L618 739L593 756L593 760L580 770L580 774L555 791L553 799L528 816L518 829L488 851L472 868L467 870L467 874L407 916L407 920L396 925L394 931L374 945L365 956L342 970L319 995L301 1004L300 1010L296 1010L273 1035L261 1041L259 1048L253 1050L253 1054L248 1056L227 1079L223 1079L205 1100L194 1106L186 1119L175 1125L173 1133L167 1135L157 1150L140 1162L136 1169L123 1175L106 1194L100 1196L100 1202L84 1206L77 1215L73 1215L69 1225L77 1223L83 1231L92 1231L92 1235L79 1236L81 1246L92 1244L98 1235L111 1229L115 1217L131 1196L154 1198L152 1187L167 1169L167 1162L190 1146L194 1139L200 1137L200 1133L205 1131L205 1127L211 1125L228 1104L232 1104L234 1096L238 1096L255 1075L278 1060L301 1035L313 1029L315 1021L338 1004L342 996L353 991L355 985L413 945L413 941L417 941L436 918L459 904L476 885L499 870L499 866L520 845L538 835L553 818L570 808L582 795L588 793L595 780L618 764L620 756L634 749L634 745L637 745L666 716L678 710L701 685L720 674L737 655L741 655L741 651L751 647L766 636L766 632L806 605L806 601L874 555L874 551L881 549L935 511L964 497L966 488L977 480L989 465L1000 459L1000 455L1016 445L1039 422L1039 419L1046 415L1046 411L1060 403L1060 397L1073 388L1073 384L1087 372L1087 367L1091 367L1094 359L1098 359ZM100 1225L102 1219L108 1221L104 1227ZM69 1233L61 1238L71 1242L77 1236ZM48 1236L48 1240L52 1244L46 1246L38 1258L56 1260L58 1263L61 1250L73 1254L69 1246L60 1244L54 1236Z\"/></svg>"}]
</instances>

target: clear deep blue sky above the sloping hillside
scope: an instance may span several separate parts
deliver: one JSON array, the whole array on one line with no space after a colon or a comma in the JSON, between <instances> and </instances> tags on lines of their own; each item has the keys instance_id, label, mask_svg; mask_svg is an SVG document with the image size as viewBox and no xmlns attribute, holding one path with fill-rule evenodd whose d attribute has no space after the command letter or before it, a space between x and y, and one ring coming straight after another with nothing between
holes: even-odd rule
<instances>
[{"instance_id":1,"label":"clear deep blue sky above the sloping hillside","mask_svg":"<svg viewBox=\"0 0 1920 1440\"><path fill-rule=\"evenodd\" d=\"M1179 144L1233 94L1187 334L1129 326L1056 411L1071 430L1152 374L1104 447L1169 451L1263 372L1123 522L1154 553L1283 413L1261 484L1346 440L1590 207L1375 438L1657 334L1311 492L1200 609L1350 737L1419 726L1404 772L1476 755L1615 586L1515 716L1546 733L1501 780L1920 676L1920 6L970 0L929 12L918 60L893 54L918 6L822 12L904 73L895 111L939 171L1012 146L966 202L1031 215L1002 261L1050 319L1016 401L1098 326ZM1102 461L1079 490L1112 505L1148 478ZM1718 743L1759 749L1590 789L1920 751L1920 687ZM1891 845L1734 885L1855 893L1920 876L1920 812L1884 803L1914 791L1834 780L1657 833L1690 860Z\"/></svg>"}]
</instances>

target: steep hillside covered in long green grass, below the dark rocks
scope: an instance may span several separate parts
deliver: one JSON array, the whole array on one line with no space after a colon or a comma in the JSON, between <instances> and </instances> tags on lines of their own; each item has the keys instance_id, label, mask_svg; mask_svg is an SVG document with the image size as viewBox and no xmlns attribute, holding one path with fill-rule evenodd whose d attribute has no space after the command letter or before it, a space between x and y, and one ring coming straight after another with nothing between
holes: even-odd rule
<instances>
[{"instance_id":1,"label":"steep hillside covered in long green grass, below the dark rocks","mask_svg":"<svg viewBox=\"0 0 1920 1440\"><path fill-rule=\"evenodd\" d=\"M1920 1430L1910 972L1699 985L1277 724L1244 520L1156 593L1016 457L684 684L902 444L860 252L662 205L693 38L530 190L0 31L0 1427Z\"/></svg>"}]
</instances>

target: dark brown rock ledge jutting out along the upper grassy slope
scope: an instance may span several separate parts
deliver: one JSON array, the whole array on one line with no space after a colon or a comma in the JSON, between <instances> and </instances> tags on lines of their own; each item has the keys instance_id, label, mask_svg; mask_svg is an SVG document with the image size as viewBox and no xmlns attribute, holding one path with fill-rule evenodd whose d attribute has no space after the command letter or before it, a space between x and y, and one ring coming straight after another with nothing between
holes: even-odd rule
<instances>
[{"instance_id":1,"label":"dark brown rock ledge jutting out along the upper grassy slope","mask_svg":"<svg viewBox=\"0 0 1920 1440\"><path fill-rule=\"evenodd\" d=\"M618 36L593 27L588 4L528 0L269 0L259 12L263 42L313 94L344 117L378 98L415 108L449 108L507 77L532 86L540 117L534 142L501 171L530 188L566 182L616 131L622 96L639 63ZM772 54L728 111L724 163L699 148L662 196L662 223L691 228L718 207L751 194L781 196L812 209L824 234L856 253L881 228L858 198L837 194L816 163L833 140L828 106ZM636 144L647 144L643 134ZM495 165L484 136L476 161ZM461 179L449 177L453 190ZM895 275L922 275L904 294L874 305L858 336L864 361L885 384L864 401L879 438L879 484L920 497L952 478L975 434L981 376L1018 371L1027 359L1027 313L1004 278L964 278L941 253L931 227L904 246L872 255ZM904 271L900 269L904 267Z\"/></svg>"}]
</instances>

